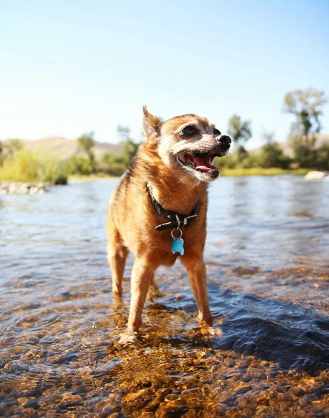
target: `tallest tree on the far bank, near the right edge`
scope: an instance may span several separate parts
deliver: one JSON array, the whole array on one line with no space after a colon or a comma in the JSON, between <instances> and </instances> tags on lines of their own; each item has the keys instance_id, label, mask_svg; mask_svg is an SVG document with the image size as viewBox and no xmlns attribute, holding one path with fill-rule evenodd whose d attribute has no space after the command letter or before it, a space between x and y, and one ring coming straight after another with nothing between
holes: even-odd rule
<instances>
[{"instance_id":1,"label":"tallest tree on the far bank, near the right edge","mask_svg":"<svg viewBox=\"0 0 329 418\"><path fill-rule=\"evenodd\" d=\"M291 146L304 167L316 167L316 134L321 131L320 116L326 102L324 91L312 87L289 91L284 97L284 113L296 116L289 135Z\"/></svg>"}]
</instances>

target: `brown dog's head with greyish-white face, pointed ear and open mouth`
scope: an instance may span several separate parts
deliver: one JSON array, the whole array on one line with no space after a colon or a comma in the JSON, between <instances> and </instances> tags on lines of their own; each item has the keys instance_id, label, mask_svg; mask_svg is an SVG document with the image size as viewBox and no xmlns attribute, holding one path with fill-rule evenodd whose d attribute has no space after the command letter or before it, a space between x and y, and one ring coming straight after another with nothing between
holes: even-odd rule
<instances>
[{"instance_id":1,"label":"brown dog's head with greyish-white face, pointed ear and open mouth","mask_svg":"<svg viewBox=\"0 0 329 418\"><path fill-rule=\"evenodd\" d=\"M143 111L146 143L157 144L158 155L167 167L204 182L219 176L213 160L227 154L231 146L227 135L201 116L188 114L162 122L146 106Z\"/></svg>"}]
</instances>

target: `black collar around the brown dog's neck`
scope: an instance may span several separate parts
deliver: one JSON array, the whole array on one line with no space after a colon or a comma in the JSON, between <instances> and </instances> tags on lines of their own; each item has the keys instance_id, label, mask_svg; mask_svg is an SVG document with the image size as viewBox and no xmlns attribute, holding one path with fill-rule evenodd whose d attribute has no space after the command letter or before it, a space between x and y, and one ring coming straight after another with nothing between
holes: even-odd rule
<instances>
[{"instance_id":1,"label":"black collar around the brown dog's neck","mask_svg":"<svg viewBox=\"0 0 329 418\"><path fill-rule=\"evenodd\" d=\"M151 185L149 185L148 183L146 183L146 190L148 197L150 198L150 201L153 205L153 208L155 208L158 215L170 221L165 224L155 226L155 229L158 229L158 231L162 231L163 229L169 228L182 228L183 226L189 226L194 221L194 219L197 219L197 213L199 210L199 199L197 201L197 204L194 206L194 209L192 210L192 212L190 212L189 215L182 215L181 213L171 212L171 210L165 210L164 208L162 208L160 203L155 200L151 189Z\"/></svg>"}]
</instances>

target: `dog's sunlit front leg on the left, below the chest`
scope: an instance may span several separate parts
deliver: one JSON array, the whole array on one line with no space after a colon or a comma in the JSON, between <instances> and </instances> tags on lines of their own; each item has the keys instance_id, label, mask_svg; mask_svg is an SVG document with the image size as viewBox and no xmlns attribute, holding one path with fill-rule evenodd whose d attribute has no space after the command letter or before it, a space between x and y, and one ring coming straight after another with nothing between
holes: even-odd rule
<instances>
[{"instance_id":1,"label":"dog's sunlit front leg on the left, below the chest","mask_svg":"<svg viewBox=\"0 0 329 418\"><path fill-rule=\"evenodd\" d=\"M154 269L146 260L135 260L131 275L131 302L128 318L128 329L133 332L141 326L141 312L143 311L148 286L153 277Z\"/></svg>"}]
</instances>

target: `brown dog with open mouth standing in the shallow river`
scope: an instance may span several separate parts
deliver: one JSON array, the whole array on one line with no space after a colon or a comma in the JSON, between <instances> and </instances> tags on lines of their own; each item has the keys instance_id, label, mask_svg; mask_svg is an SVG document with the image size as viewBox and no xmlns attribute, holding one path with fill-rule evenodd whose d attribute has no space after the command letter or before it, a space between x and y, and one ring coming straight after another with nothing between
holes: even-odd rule
<instances>
[{"instance_id":1,"label":"brown dog with open mouth standing in the shallow river","mask_svg":"<svg viewBox=\"0 0 329 418\"><path fill-rule=\"evenodd\" d=\"M199 319L211 326L203 254L207 185L219 176L213 159L227 153L231 139L200 116L188 114L162 122L145 106L143 110L146 141L109 202L107 258L113 293L121 297L125 259L132 251L128 330L137 331L155 270L173 265L180 255Z\"/></svg>"}]
</instances>

